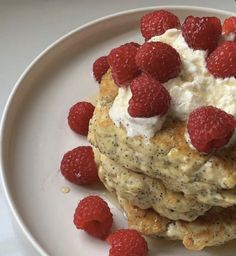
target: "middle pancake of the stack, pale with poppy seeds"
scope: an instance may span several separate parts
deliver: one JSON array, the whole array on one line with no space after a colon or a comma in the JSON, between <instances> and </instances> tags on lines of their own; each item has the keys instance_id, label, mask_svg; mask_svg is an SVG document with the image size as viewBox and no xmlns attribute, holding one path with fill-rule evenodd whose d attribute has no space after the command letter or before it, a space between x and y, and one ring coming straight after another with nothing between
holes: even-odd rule
<instances>
[{"instance_id":1,"label":"middle pancake of the stack, pale with poppy seeds","mask_svg":"<svg viewBox=\"0 0 236 256\"><path fill-rule=\"evenodd\" d=\"M128 170L100 154L99 177L107 190L141 209L153 208L172 220L193 221L211 207L167 189L161 180Z\"/></svg>"}]
</instances>

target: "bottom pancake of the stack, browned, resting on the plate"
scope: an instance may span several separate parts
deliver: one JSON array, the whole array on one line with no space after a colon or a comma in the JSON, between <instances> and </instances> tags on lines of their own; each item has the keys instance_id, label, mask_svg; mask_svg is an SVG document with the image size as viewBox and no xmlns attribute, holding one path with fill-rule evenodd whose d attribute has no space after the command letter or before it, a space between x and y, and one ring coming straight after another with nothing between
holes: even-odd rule
<instances>
[{"instance_id":1,"label":"bottom pancake of the stack, browned, resting on the plate","mask_svg":"<svg viewBox=\"0 0 236 256\"><path fill-rule=\"evenodd\" d=\"M195 221L186 222L167 219L151 209L142 210L121 197L118 199L126 213L129 228L143 235L182 240L187 249L197 251L236 238L235 207L215 207Z\"/></svg>"}]
</instances>

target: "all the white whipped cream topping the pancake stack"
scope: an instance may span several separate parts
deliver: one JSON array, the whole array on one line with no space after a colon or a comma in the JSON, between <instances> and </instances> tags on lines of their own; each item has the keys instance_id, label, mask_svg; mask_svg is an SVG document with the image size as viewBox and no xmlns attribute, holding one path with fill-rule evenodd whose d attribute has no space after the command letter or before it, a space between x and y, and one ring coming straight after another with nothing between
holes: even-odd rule
<instances>
[{"instance_id":1,"label":"all the white whipped cream topping the pancake stack","mask_svg":"<svg viewBox=\"0 0 236 256\"><path fill-rule=\"evenodd\" d=\"M168 115L185 121L194 109L212 105L236 117L236 79L216 79L211 75L206 67L207 51L190 48L181 30L175 28L151 38L150 41L171 45L177 50L182 61L179 76L164 83L171 96ZM131 97L129 89L119 89L110 110L111 119L117 126L122 123L127 129L128 136L153 136L161 129L164 118L132 118L127 112Z\"/></svg>"}]
</instances>

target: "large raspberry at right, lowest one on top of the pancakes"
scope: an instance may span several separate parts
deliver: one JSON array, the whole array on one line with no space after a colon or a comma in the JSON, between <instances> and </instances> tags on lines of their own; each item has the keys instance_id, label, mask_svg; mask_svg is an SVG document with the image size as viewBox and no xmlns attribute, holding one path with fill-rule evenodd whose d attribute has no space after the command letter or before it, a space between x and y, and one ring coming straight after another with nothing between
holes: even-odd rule
<instances>
[{"instance_id":1,"label":"large raspberry at right, lowest one on top of the pancakes","mask_svg":"<svg viewBox=\"0 0 236 256\"><path fill-rule=\"evenodd\" d=\"M226 145L234 127L235 120L232 115L212 106L195 109L187 122L192 145L204 153L211 153Z\"/></svg>"}]
</instances>

